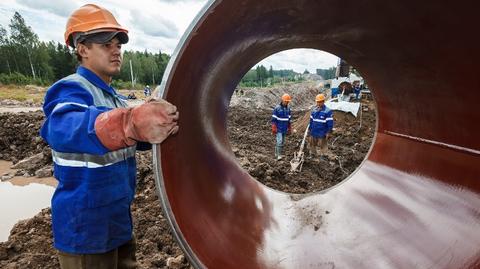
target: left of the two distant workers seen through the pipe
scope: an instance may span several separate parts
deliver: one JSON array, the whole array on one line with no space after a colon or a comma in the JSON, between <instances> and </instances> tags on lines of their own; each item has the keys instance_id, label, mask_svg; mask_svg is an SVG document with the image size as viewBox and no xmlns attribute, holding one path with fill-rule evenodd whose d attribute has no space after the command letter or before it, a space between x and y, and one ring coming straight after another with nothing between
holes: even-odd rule
<instances>
[{"instance_id":1,"label":"left of the two distant workers seen through the pipe","mask_svg":"<svg viewBox=\"0 0 480 269\"><path fill-rule=\"evenodd\" d=\"M288 104L292 101L292 97L288 94L282 95L282 101L278 104L272 113L272 133L276 137L275 158L281 160L283 158L282 151L285 144L285 136L291 131L291 111Z\"/></svg>"}]
</instances>

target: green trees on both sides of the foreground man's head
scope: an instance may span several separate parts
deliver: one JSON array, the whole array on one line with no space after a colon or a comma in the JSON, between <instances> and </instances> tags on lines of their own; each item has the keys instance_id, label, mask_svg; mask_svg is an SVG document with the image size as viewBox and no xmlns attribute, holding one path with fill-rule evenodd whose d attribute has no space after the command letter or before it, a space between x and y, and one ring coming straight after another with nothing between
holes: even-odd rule
<instances>
[{"instance_id":1,"label":"green trees on both sides of the foreground man's head","mask_svg":"<svg viewBox=\"0 0 480 269\"><path fill-rule=\"evenodd\" d=\"M125 51L121 72L112 84L117 88L132 88L132 79L136 88L160 84L169 60L170 56L161 51ZM0 83L48 86L74 73L77 66L72 49L59 42L40 41L20 13L15 12L8 31L0 25Z\"/></svg>"}]
</instances>

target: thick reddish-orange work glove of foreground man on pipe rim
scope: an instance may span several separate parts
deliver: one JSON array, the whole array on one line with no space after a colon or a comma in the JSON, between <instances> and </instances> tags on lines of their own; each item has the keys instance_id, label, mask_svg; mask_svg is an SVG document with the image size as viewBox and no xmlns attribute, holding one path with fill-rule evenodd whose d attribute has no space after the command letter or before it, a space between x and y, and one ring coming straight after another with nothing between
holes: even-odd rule
<instances>
[{"instance_id":1,"label":"thick reddish-orange work glove of foreground man on pipe rim","mask_svg":"<svg viewBox=\"0 0 480 269\"><path fill-rule=\"evenodd\" d=\"M178 131L177 107L158 99L132 108L116 108L100 114L95 132L109 150L133 146L137 141L160 144Z\"/></svg>"}]
</instances>

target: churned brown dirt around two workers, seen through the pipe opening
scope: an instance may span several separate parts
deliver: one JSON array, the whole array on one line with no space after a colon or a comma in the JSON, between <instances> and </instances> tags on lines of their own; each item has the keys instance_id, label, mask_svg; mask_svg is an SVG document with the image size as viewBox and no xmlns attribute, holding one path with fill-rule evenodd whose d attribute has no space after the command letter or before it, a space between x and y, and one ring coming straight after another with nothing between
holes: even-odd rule
<instances>
[{"instance_id":1,"label":"churned brown dirt around two workers, seen through the pipe opening","mask_svg":"<svg viewBox=\"0 0 480 269\"><path fill-rule=\"evenodd\" d=\"M332 156L307 159L300 173L289 173L290 160L298 150L308 124L308 110L293 111L293 126L298 128L297 133L287 136L286 158L275 161L271 110L252 113L249 109L231 107L227 129L233 152L252 177L273 189L309 193L331 187L350 175L370 149L375 132L375 107L371 101L364 102L365 111L361 117L334 112L335 127L329 141ZM360 122L363 123L361 128Z\"/></svg>"}]
</instances>

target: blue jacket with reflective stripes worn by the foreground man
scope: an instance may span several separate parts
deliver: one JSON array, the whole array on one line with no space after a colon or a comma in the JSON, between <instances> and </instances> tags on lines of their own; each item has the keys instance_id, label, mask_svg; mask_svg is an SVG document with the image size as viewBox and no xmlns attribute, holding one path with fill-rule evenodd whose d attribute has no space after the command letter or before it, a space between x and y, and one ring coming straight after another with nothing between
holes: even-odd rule
<instances>
[{"instance_id":1,"label":"blue jacket with reflective stripes worn by the foreground man","mask_svg":"<svg viewBox=\"0 0 480 269\"><path fill-rule=\"evenodd\" d=\"M52 148L58 180L52 231L60 251L103 253L131 239L135 147L110 152L94 128L100 113L126 106L113 88L84 67L47 91L41 135Z\"/></svg>"}]
</instances>

